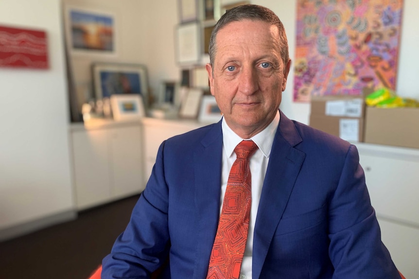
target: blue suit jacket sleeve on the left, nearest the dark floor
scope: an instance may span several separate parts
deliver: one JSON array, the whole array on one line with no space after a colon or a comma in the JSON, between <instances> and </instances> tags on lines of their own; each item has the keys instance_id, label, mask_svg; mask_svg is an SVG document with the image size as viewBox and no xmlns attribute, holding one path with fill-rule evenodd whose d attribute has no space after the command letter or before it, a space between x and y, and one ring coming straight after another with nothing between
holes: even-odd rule
<instances>
[{"instance_id":1,"label":"blue suit jacket sleeve on the left, nearest the dark floor","mask_svg":"<svg viewBox=\"0 0 419 279\"><path fill-rule=\"evenodd\" d=\"M168 187L163 170L163 142L144 192L134 207L130 222L103 260L102 279L150 278L167 258Z\"/></svg>"}]
</instances>

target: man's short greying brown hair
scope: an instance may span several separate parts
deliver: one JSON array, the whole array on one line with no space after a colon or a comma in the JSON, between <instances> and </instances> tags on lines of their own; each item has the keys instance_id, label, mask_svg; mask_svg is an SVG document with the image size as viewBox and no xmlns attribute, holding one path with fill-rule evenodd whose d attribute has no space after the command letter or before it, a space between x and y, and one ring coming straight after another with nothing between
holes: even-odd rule
<instances>
[{"instance_id":1,"label":"man's short greying brown hair","mask_svg":"<svg viewBox=\"0 0 419 279\"><path fill-rule=\"evenodd\" d=\"M282 22L279 20L279 17L266 7L260 5L247 4L227 10L227 12L223 16L221 16L221 18L215 24L214 29L211 33L209 46L211 66L214 66L215 54L217 53L217 33L231 22L242 21L246 19L254 21L259 20L278 27L279 53L281 55L284 65L286 65L290 59L288 53L288 40L287 35L285 34L284 26Z\"/></svg>"}]
</instances>

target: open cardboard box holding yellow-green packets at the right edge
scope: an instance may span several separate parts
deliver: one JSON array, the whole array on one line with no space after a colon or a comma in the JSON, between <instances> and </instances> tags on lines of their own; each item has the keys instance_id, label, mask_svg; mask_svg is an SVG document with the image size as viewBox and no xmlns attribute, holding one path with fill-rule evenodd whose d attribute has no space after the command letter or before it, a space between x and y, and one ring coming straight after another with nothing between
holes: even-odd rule
<instances>
[{"instance_id":1,"label":"open cardboard box holding yellow-green packets at the right edge","mask_svg":"<svg viewBox=\"0 0 419 279\"><path fill-rule=\"evenodd\" d=\"M419 148L419 108L367 107L365 142Z\"/></svg>"}]
</instances>

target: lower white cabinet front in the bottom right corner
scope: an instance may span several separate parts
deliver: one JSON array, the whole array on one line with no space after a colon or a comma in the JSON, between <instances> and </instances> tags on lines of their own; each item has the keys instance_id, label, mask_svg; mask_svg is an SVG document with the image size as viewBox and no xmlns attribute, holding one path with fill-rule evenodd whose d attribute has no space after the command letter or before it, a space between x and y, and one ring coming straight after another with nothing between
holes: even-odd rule
<instances>
[{"instance_id":1,"label":"lower white cabinet front in the bottom right corner","mask_svg":"<svg viewBox=\"0 0 419 279\"><path fill-rule=\"evenodd\" d=\"M406 278L419 278L419 227L408 227L378 218L384 245Z\"/></svg>"}]
</instances>

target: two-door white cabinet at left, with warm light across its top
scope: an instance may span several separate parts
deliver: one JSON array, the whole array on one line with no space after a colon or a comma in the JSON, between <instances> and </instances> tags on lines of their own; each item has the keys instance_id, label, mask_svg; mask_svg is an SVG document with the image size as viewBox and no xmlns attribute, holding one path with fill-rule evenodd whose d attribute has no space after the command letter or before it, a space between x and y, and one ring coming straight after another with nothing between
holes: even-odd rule
<instances>
[{"instance_id":1,"label":"two-door white cabinet at left, with warm light across its top","mask_svg":"<svg viewBox=\"0 0 419 279\"><path fill-rule=\"evenodd\" d=\"M144 189L139 122L75 126L71 136L78 210Z\"/></svg>"}]
</instances>

